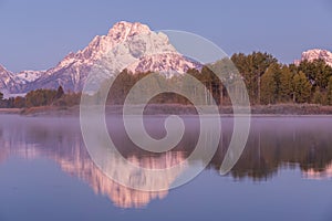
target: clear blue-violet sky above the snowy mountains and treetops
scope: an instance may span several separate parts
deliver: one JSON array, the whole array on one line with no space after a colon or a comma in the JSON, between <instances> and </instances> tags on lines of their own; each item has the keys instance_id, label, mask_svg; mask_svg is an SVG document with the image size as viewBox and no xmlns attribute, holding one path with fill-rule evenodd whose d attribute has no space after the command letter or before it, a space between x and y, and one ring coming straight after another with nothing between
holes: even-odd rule
<instances>
[{"instance_id":1,"label":"clear blue-violet sky above the snowy mountains and treetops","mask_svg":"<svg viewBox=\"0 0 332 221\"><path fill-rule=\"evenodd\" d=\"M332 0L0 0L0 64L50 69L117 21L193 32L228 55L262 51L282 63L332 51Z\"/></svg>"}]
</instances>

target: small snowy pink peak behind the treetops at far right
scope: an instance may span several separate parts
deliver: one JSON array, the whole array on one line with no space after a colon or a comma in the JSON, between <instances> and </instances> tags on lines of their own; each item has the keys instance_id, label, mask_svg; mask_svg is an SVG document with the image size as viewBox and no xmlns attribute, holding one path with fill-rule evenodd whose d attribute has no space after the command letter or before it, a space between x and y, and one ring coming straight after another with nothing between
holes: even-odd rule
<instances>
[{"instance_id":1,"label":"small snowy pink peak behind the treetops at far right","mask_svg":"<svg viewBox=\"0 0 332 221\"><path fill-rule=\"evenodd\" d=\"M301 59L295 60L294 64L299 65L301 61L307 60L309 62L312 62L313 60L318 59L323 60L328 65L332 66L332 52L321 49L313 49L303 52Z\"/></svg>"}]
</instances>

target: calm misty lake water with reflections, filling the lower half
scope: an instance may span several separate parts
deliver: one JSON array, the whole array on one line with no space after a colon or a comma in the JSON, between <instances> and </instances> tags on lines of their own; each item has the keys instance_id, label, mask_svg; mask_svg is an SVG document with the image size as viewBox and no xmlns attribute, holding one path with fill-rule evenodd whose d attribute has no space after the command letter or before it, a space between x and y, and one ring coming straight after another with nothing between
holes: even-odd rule
<instances>
[{"instance_id":1,"label":"calm misty lake water with reflections, filling the lower half","mask_svg":"<svg viewBox=\"0 0 332 221\"><path fill-rule=\"evenodd\" d=\"M231 119L224 120L206 170L179 188L144 192L96 168L77 119L0 115L0 220L332 220L332 117L253 118L240 160L220 176L231 136ZM160 122L146 122L152 136L164 136ZM136 148L111 119L108 126L122 155L148 168L190 154L197 119L186 122L180 144L159 155Z\"/></svg>"}]
</instances>

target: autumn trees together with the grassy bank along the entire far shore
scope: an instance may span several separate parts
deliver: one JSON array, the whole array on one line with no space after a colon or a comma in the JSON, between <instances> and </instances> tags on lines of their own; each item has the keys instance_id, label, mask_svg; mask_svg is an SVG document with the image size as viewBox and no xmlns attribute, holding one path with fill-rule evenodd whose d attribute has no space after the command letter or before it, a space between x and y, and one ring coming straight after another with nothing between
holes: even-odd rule
<instances>
[{"instance_id":1,"label":"autumn trees together with the grassy bank along the entire far shore","mask_svg":"<svg viewBox=\"0 0 332 221\"><path fill-rule=\"evenodd\" d=\"M224 73L229 76L229 74L237 72L242 77L240 80L227 78L227 86L215 74ZM83 96L98 104L101 94L108 92L106 114L122 114L122 105L127 94L137 82L148 74L149 72L134 74L123 70L115 78L105 80L94 94L83 94ZM186 74L205 85L201 87L204 90L190 85L190 90L197 96L196 98L205 105L210 105L211 101L215 101L220 107L221 115L232 114L229 88L234 88L240 97L246 97L248 93L253 115L332 115L332 65L322 59L303 60L297 64L281 64L268 53L252 52L247 55L238 53L234 54L230 60L226 57L216 63L204 65L201 70L188 70ZM184 75L178 75L172 80L164 77L165 86L178 83L181 88L188 87ZM239 81L245 82L246 93L236 90ZM155 90L157 86L158 81L153 81L148 88L144 87L142 92ZM4 108L0 109L0 113L33 116L79 116L81 96L82 92L70 92L61 85L58 90L30 91L24 97L4 98L3 93L0 92L0 108ZM163 93L149 101L145 114L195 115L197 112L186 97L174 93Z\"/></svg>"}]
</instances>

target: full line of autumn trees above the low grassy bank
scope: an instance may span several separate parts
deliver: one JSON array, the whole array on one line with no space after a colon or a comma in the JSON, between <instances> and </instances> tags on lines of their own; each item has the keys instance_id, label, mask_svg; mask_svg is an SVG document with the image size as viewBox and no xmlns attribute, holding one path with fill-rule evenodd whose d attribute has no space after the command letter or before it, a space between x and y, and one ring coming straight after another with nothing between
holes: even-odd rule
<instances>
[{"instance_id":1,"label":"full line of autumn trees above the low grassy bank","mask_svg":"<svg viewBox=\"0 0 332 221\"><path fill-rule=\"evenodd\" d=\"M238 72L243 80L251 105L280 103L332 105L332 67L323 60L302 61L299 65L294 65L281 64L268 53L236 53L230 60L224 59L214 64L204 65L200 71L187 71L187 74L205 85L205 91L194 88L195 85L186 85L181 75L167 78L166 82L172 85L176 81L183 81L181 86L184 88L191 86L190 93L201 97L205 104L211 104L210 99L215 99L219 105L230 105L225 83L237 84L236 81L230 81L230 74L234 72ZM114 80L108 92L107 104L123 104L131 88L148 74L133 74L124 70ZM216 74L224 77L222 83ZM110 81L105 81L100 91L93 95L96 101L102 91L108 88L107 84ZM152 81L142 93L157 88L160 84L158 80ZM80 103L80 93L64 94L61 86L58 90L35 90L29 92L25 97L18 96L8 99L3 99L3 94L0 93L0 107L72 106ZM174 93L164 93L154 97L151 103L190 104L190 101Z\"/></svg>"}]
</instances>

